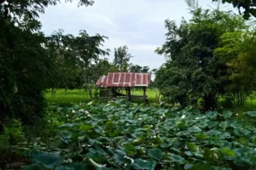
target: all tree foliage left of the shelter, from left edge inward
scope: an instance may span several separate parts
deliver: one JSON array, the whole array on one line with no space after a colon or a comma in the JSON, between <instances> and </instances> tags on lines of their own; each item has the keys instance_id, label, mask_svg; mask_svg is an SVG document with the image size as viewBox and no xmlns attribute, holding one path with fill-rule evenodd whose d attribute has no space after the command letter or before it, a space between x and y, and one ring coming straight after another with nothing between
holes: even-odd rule
<instances>
[{"instance_id":1,"label":"all tree foliage left of the shelter, from left edge inward","mask_svg":"<svg viewBox=\"0 0 256 170\"><path fill-rule=\"evenodd\" d=\"M0 1L0 131L7 118L15 116L32 123L42 115L45 89L76 88L79 85L73 82L95 81L87 70L91 59L107 53L100 49L105 37L90 37L86 31L80 31L79 37L64 36L61 31L45 37L38 14L57 3ZM89 0L79 1L79 5L92 4ZM81 69L74 70L78 58ZM79 79L81 75L83 80Z\"/></svg>"}]
</instances>

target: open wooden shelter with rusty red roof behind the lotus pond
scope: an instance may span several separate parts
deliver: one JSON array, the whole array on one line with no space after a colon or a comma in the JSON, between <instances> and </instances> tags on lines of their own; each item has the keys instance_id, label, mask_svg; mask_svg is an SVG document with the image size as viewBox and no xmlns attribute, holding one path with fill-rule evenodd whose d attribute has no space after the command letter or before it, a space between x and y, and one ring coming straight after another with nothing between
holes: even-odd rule
<instances>
[{"instance_id":1,"label":"open wooden shelter with rusty red roof behind the lotus pond","mask_svg":"<svg viewBox=\"0 0 256 170\"><path fill-rule=\"evenodd\" d=\"M102 76L96 82L96 85L100 87L101 97L108 96L111 99L116 99L119 96L126 96L129 101L131 98L143 98L145 102L148 97L146 89L149 84L149 73L135 72L109 72L108 76ZM118 88L125 88L126 95L119 93L117 91ZM143 95L131 95L131 88L143 88Z\"/></svg>"}]
</instances>

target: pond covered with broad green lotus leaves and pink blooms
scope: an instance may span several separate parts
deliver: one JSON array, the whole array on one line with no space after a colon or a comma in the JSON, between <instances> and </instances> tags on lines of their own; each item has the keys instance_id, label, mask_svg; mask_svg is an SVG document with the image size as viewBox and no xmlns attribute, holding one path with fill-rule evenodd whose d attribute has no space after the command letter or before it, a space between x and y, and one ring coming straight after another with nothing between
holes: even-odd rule
<instances>
[{"instance_id":1,"label":"pond covered with broad green lotus leaves and pink blooms","mask_svg":"<svg viewBox=\"0 0 256 170\"><path fill-rule=\"evenodd\" d=\"M231 111L201 114L191 106L117 100L49 105L45 120L47 140L38 133L12 146L29 160L22 169L256 169L256 127Z\"/></svg>"}]
</instances>

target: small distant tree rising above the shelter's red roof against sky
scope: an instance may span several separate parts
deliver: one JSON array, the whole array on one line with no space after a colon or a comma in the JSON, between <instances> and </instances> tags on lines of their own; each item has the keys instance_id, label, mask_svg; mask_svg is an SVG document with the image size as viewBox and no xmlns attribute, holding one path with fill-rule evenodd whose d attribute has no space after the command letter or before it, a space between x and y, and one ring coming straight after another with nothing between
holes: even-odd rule
<instances>
[{"instance_id":1,"label":"small distant tree rising above the shelter's red roof against sky","mask_svg":"<svg viewBox=\"0 0 256 170\"><path fill-rule=\"evenodd\" d=\"M113 66L117 67L119 71L128 71L128 62L131 57L131 54L128 53L127 46L114 48Z\"/></svg>"}]
</instances>

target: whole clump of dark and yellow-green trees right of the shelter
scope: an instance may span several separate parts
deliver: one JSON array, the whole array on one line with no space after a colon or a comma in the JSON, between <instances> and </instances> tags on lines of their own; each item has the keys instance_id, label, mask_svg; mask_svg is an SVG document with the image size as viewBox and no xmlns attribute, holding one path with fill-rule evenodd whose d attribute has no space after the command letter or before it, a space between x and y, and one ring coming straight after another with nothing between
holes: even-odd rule
<instances>
[{"instance_id":1,"label":"whole clump of dark and yellow-green trees right of the shelter","mask_svg":"<svg viewBox=\"0 0 256 170\"><path fill-rule=\"evenodd\" d=\"M167 41L156 53L167 60L154 71L155 86L167 102L183 107L202 99L209 111L217 108L219 97L243 107L256 87L254 27L219 9L190 12L192 19L180 26L166 20Z\"/></svg>"}]
</instances>

